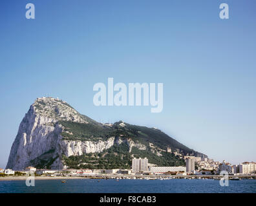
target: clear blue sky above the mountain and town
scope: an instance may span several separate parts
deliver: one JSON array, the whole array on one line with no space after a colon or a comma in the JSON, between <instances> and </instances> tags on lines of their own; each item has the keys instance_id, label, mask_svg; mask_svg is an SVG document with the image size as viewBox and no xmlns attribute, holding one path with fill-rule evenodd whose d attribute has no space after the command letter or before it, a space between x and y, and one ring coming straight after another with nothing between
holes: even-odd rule
<instances>
[{"instance_id":1,"label":"clear blue sky above the mountain and town","mask_svg":"<svg viewBox=\"0 0 256 206\"><path fill-rule=\"evenodd\" d=\"M27 3L36 19L25 18ZM2 0L0 167L44 96L100 122L158 127L214 160L256 162L255 37L254 0ZM92 88L108 77L163 83L162 113L94 106Z\"/></svg>"}]
</instances>

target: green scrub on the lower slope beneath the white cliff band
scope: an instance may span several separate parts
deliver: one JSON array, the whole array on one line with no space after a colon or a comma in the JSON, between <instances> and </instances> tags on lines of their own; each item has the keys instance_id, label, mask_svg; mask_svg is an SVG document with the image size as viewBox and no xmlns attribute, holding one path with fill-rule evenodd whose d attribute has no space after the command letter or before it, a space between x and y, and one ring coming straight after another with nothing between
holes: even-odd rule
<instances>
[{"instance_id":1,"label":"green scrub on the lower slope beneath the white cliff band","mask_svg":"<svg viewBox=\"0 0 256 206\"><path fill-rule=\"evenodd\" d=\"M131 168L133 156L136 158L148 158L149 163L158 166L179 166L185 165L184 160L176 157L171 153L161 153L162 156L157 156L149 149L140 150L133 147L129 153L127 144L114 145L109 149L105 149L101 153L89 153L81 156L65 156L63 162L69 168L83 169L129 169Z\"/></svg>"}]
</instances>

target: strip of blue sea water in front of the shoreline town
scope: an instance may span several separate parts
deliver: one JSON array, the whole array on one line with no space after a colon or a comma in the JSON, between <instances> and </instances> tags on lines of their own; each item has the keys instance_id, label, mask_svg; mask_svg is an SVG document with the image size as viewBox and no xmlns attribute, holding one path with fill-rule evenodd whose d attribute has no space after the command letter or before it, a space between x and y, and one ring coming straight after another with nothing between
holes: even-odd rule
<instances>
[{"instance_id":1,"label":"strip of blue sea water in front of the shoreline town","mask_svg":"<svg viewBox=\"0 0 256 206\"><path fill-rule=\"evenodd\" d=\"M218 180L36 180L34 187L27 187L24 180L0 181L0 193L23 192L116 192L116 193L169 193L169 192L256 192L256 180L229 181L228 187L221 187Z\"/></svg>"}]
</instances>

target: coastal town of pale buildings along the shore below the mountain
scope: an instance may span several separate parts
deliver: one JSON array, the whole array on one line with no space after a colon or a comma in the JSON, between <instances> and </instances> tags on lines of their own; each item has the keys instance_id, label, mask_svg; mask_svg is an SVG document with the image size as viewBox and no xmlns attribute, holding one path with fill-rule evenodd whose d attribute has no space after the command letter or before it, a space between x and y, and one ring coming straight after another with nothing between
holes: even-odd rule
<instances>
[{"instance_id":1,"label":"coastal town of pale buildings along the shore below the mountain","mask_svg":"<svg viewBox=\"0 0 256 206\"><path fill-rule=\"evenodd\" d=\"M239 165L230 163L215 162L213 159L197 156L184 156L186 166L158 167L149 164L147 158L133 158L131 169L37 169L26 167L21 171L12 169L0 169L0 177L10 176L47 176L47 177L85 177L85 178L217 178L222 171L229 176L236 176L238 179L256 179L256 163L242 162Z\"/></svg>"}]
</instances>

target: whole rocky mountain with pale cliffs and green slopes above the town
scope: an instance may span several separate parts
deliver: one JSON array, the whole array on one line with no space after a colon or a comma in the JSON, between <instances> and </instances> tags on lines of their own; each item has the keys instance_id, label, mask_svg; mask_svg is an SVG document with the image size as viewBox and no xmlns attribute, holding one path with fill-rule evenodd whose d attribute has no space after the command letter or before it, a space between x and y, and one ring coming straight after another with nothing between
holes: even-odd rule
<instances>
[{"instance_id":1,"label":"whole rocky mountain with pale cliffs and green slopes above the town","mask_svg":"<svg viewBox=\"0 0 256 206\"><path fill-rule=\"evenodd\" d=\"M184 165L184 155L202 156L156 128L125 122L101 124L58 98L37 98L23 118L6 168L114 169L132 158L149 164Z\"/></svg>"}]
</instances>

